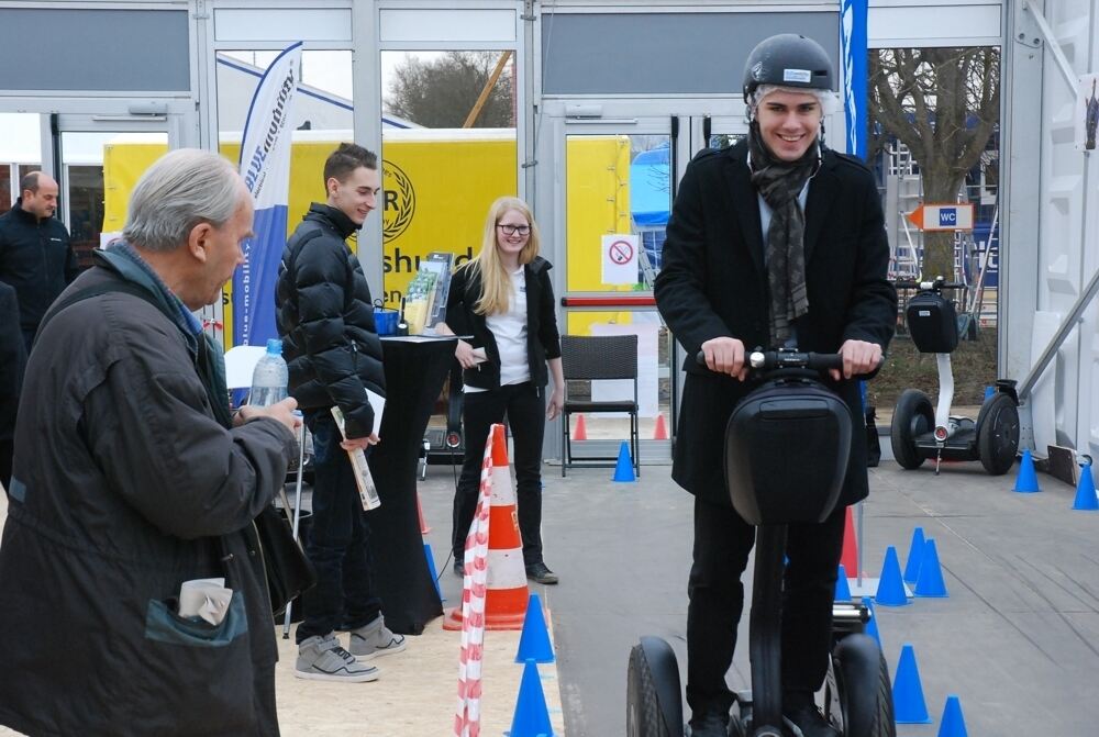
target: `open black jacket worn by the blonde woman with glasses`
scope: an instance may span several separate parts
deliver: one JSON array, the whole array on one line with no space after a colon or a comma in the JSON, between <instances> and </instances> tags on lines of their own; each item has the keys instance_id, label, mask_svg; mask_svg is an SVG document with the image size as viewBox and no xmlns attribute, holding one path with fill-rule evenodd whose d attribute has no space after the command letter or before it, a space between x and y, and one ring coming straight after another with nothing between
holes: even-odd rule
<instances>
[{"instance_id":1,"label":"open black jacket worn by the blonde woman with glasses","mask_svg":"<svg viewBox=\"0 0 1099 737\"><path fill-rule=\"evenodd\" d=\"M550 380L546 360L560 358L560 335L557 332L557 308L546 259L537 256L523 267L526 280L526 360L531 384L545 387ZM471 335L474 348L485 348L488 360L462 372L463 383L479 389L500 388L500 350L496 336L488 328L485 315L474 312L481 295L480 276L468 266L459 267L451 277L446 298L446 326L457 335Z\"/></svg>"}]
</instances>

